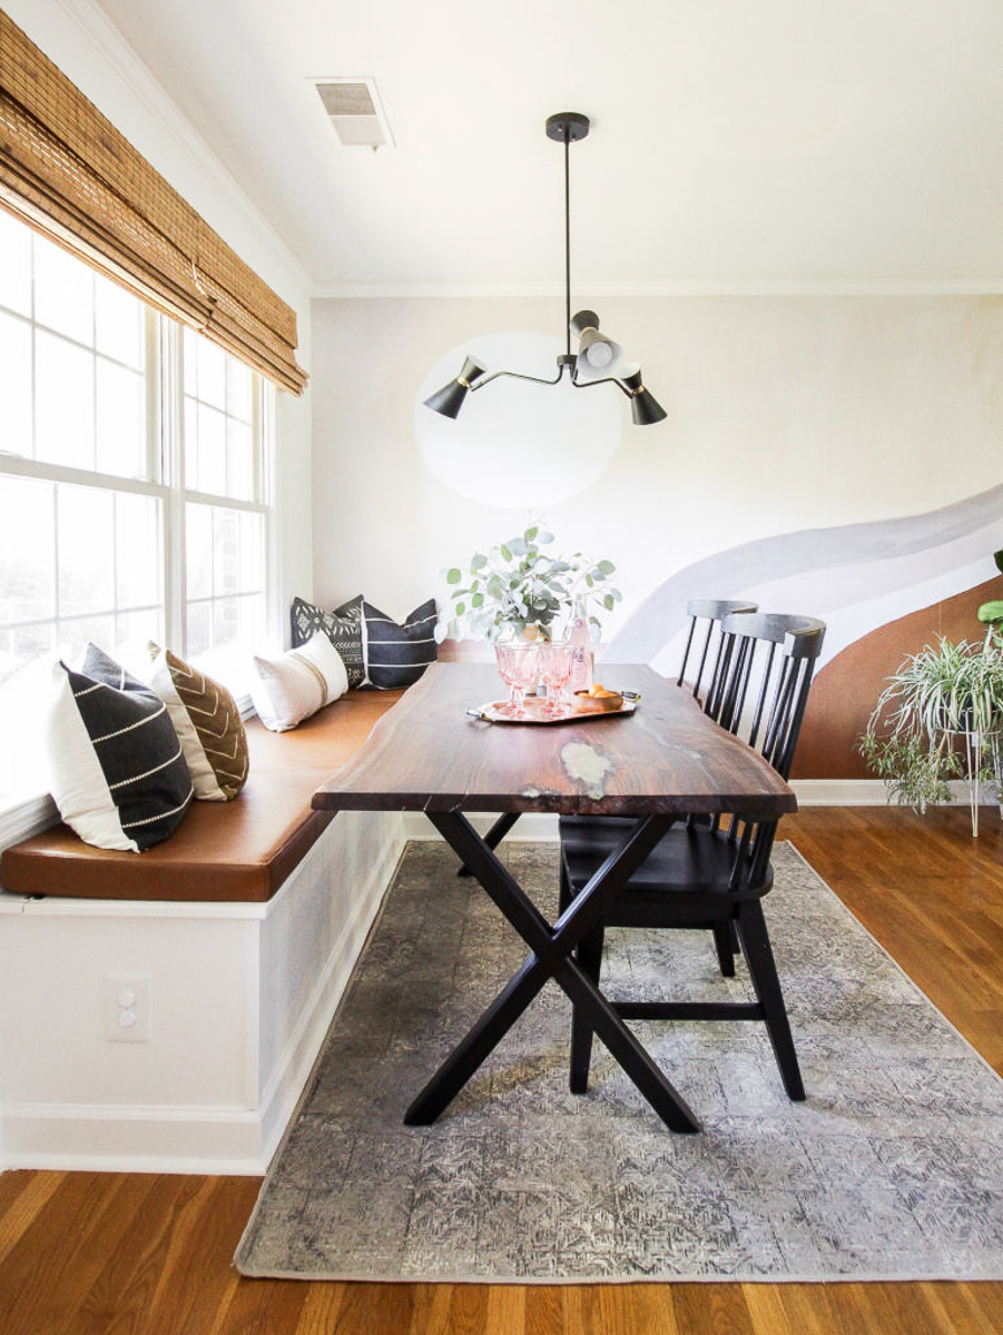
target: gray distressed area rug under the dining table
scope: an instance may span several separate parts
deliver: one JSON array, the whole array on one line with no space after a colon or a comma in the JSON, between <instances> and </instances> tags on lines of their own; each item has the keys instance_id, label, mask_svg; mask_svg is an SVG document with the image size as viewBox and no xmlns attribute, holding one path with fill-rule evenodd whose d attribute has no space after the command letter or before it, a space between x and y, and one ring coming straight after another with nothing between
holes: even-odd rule
<instances>
[{"instance_id":1,"label":"gray distressed area rug under the dining table","mask_svg":"<svg viewBox=\"0 0 1003 1335\"><path fill-rule=\"evenodd\" d=\"M556 845L504 845L553 914ZM601 1044L568 1091L554 984L433 1127L406 1105L525 957L439 842L409 845L236 1254L366 1280L1003 1278L1003 1081L789 845L764 901L808 1101L757 1023L649 1023L703 1123L669 1132ZM749 995L709 933L610 932L604 991Z\"/></svg>"}]
</instances>

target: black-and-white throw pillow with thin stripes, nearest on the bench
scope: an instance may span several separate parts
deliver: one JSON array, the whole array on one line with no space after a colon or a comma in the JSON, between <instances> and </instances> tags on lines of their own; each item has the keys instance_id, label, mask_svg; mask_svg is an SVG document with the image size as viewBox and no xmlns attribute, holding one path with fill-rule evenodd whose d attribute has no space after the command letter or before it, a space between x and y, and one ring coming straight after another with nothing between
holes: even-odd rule
<instances>
[{"instance_id":1,"label":"black-and-white throw pillow with thin stripes, nearest on the bench","mask_svg":"<svg viewBox=\"0 0 1003 1335\"><path fill-rule=\"evenodd\" d=\"M175 832L191 777L167 705L95 645L83 668L53 669L48 722L52 797L97 848L142 853Z\"/></svg>"}]
</instances>

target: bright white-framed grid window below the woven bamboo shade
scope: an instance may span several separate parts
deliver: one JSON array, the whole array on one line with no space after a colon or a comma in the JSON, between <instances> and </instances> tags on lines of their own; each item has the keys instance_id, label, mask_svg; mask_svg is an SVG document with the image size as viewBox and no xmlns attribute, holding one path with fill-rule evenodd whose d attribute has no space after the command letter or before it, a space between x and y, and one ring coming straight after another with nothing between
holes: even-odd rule
<instances>
[{"instance_id":1,"label":"bright white-framed grid window below the woven bamboo shade","mask_svg":"<svg viewBox=\"0 0 1003 1335\"><path fill-rule=\"evenodd\" d=\"M0 802L41 661L170 643L240 692L267 617L272 391L0 212ZM37 684L36 684L37 686ZM7 745L13 740L13 745Z\"/></svg>"}]
</instances>

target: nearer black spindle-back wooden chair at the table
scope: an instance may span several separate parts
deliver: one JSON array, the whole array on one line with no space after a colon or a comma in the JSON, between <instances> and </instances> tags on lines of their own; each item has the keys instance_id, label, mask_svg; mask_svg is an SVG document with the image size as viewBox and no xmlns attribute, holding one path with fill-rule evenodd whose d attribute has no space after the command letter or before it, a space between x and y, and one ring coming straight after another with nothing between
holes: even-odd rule
<instances>
[{"instance_id":1,"label":"nearer black spindle-back wooden chair at the table","mask_svg":"<svg viewBox=\"0 0 1003 1335\"><path fill-rule=\"evenodd\" d=\"M705 710L745 738L788 778L825 627L809 617L740 613L721 622L723 647ZM610 821L561 820L561 909L588 884L622 838ZM763 1020L784 1088L804 1099L791 1025L763 916L773 885L771 852L776 821L713 817L673 828L633 874L606 918L577 951L598 983L606 926L712 930L721 972L732 940L740 944L755 1001L637 1001L616 1009L626 1020ZM570 1087L588 1088L592 1029L576 1009L572 1020Z\"/></svg>"}]
</instances>

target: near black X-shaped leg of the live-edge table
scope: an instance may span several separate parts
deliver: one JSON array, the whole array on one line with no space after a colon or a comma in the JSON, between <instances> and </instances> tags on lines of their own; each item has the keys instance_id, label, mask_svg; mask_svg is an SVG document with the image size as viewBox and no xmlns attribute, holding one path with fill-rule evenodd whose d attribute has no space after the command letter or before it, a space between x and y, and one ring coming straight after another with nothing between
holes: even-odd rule
<instances>
[{"instance_id":1,"label":"near black X-shaped leg of the live-edge table","mask_svg":"<svg viewBox=\"0 0 1003 1335\"><path fill-rule=\"evenodd\" d=\"M548 979L581 1008L593 1031L672 1131L698 1131L692 1111L628 1029L572 952L606 913L612 900L673 824L648 816L610 853L553 926L518 881L459 812L426 812L429 820L501 909L533 955L502 988L467 1036L405 1113L409 1127L425 1127L453 1101L485 1057L509 1032Z\"/></svg>"}]
</instances>

